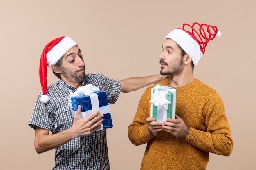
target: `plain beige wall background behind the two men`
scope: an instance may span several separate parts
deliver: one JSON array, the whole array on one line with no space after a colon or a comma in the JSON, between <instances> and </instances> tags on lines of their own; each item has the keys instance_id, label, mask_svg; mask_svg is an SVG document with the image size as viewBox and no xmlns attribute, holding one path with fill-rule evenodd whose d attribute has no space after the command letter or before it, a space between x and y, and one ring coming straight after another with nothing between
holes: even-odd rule
<instances>
[{"instance_id":1,"label":"plain beige wall background behind the two men","mask_svg":"<svg viewBox=\"0 0 256 170\"><path fill-rule=\"evenodd\" d=\"M70 36L83 52L87 73L124 79L158 74L164 36L193 22L222 32L207 45L194 75L222 97L234 139L231 156L210 154L207 170L255 169L255 16L254 0L1 0L0 169L54 166L54 150L37 154L28 126L41 92L40 55L50 40ZM49 85L57 78L49 71L47 80ZM110 106L112 170L140 167L146 145L133 146L127 128L144 90L122 93Z\"/></svg>"}]
</instances>

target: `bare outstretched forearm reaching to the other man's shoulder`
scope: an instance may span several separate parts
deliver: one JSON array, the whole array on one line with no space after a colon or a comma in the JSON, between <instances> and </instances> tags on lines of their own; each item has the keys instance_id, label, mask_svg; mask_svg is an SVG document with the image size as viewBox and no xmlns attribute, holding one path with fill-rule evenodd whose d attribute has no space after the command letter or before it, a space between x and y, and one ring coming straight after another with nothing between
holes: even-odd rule
<instances>
[{"instance_id":1,"label":"bare outstretched forearm reaching to the other man's shoulder","mask_svg":"<svg viewBox=\"0 0 256 170\"><path fill-rule=\"evenodd\" d=\"M155 84L166 79L165 75L151 75L146 77L131 77L124 80L120 80L122 86L122 92L128 93L138 90L150 84Z\"/></svg>"}]
</instances>

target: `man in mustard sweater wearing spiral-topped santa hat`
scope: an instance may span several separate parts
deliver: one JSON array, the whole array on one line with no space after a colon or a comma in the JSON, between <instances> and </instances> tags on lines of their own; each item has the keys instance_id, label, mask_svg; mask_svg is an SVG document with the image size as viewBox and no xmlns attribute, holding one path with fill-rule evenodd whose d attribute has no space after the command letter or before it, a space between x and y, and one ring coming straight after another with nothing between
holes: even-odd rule
<instances>
[{"instance_id":1,"label":"man in mustard sweater wearing spiral-topped santa hat","mask_svg":"<svg viewBox=\"0 0 256 170\"><path fill-rule=\"evenodd\" d=\"M189 29L185 29L185 28ZM198 29L198 31L197 31ZM160 55L159 84L177 89L176 119L150 117L150 86L128 127L132 144L146 144L141 170L205 170L209 152L229 156L233 140L220 96L193 76L207 43L220 36L216 26L183 24L166 35Z\"/></svg>"}]
</instances>

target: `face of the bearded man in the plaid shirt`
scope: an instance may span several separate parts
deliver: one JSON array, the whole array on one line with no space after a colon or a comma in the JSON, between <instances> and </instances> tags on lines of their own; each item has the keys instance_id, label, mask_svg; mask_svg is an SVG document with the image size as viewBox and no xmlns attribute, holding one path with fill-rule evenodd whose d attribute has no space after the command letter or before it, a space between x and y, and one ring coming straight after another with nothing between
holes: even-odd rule
<instances>
[{"instance_id":1,"label":"face of the bearded man in the plaid shirt","mask_svg":"<svg viewBox=\"0 0 256 170\"><path fill-rule=\"evenodd\" d=\"M61 61L61 79L69 82L83 82L85 77L85 64L82 56L78 46L74 46L67 51Z\"/></svg>"}]
</instances>

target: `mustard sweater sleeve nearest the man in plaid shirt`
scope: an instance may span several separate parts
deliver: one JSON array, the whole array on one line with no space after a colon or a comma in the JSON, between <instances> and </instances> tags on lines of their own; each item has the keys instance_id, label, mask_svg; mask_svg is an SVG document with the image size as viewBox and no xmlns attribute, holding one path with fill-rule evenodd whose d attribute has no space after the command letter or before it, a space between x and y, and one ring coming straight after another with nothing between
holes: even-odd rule
<instances>
[{"instance_id":1,"label":"mustard sweater sleeve nearest the man in plaid shirt","mask_svg":"<svg viewBox=\"0 0 256 170\"><path fill-rule=\"evenodd\" d=\"M146 144L153 138L146 121L146 118L150 117L150 93L150 88L147 88L141 96L135 117L128 126L129 139L135 146Z\"/></svg>"}]
</instances>

